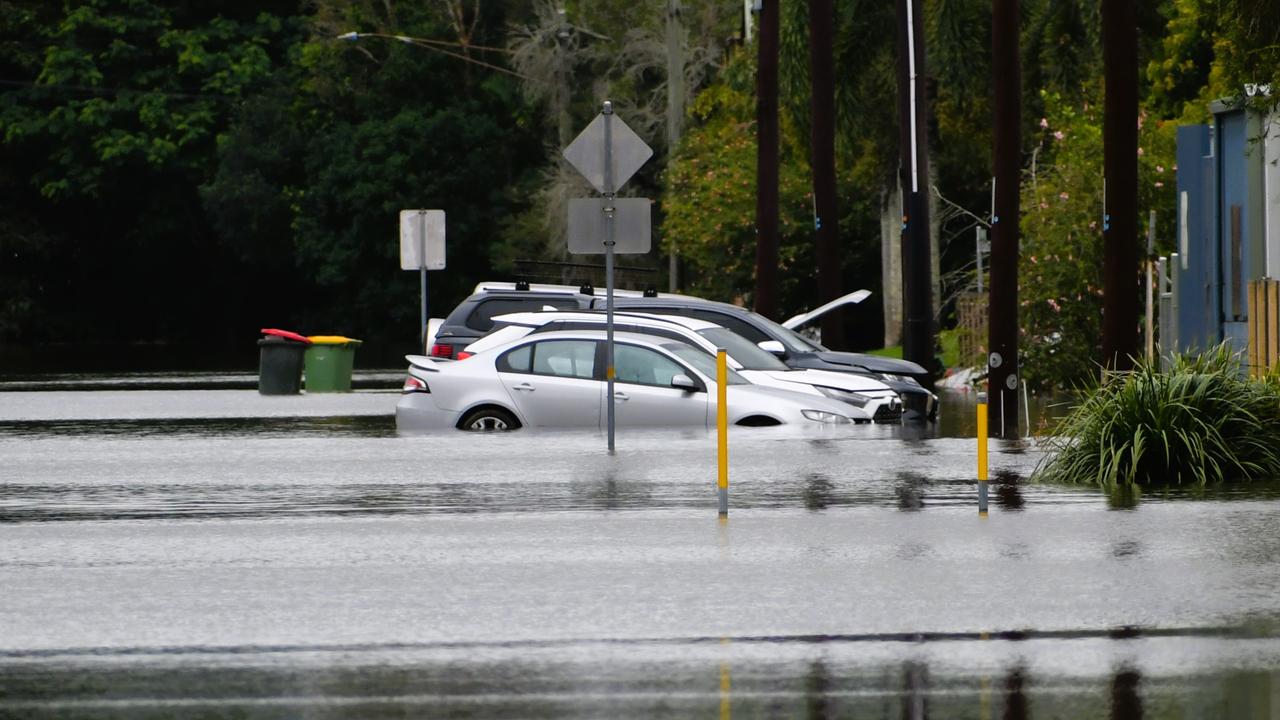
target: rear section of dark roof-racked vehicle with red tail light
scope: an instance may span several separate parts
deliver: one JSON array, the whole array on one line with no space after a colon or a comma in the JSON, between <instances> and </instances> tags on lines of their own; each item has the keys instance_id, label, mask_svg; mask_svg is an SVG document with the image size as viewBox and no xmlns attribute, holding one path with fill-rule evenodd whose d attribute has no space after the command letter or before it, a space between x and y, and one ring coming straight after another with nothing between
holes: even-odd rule
<instances>
[{"instance_id":1,"label":"rear section of dark roof-racked vehicle with red tail light","mask_svg":"<svg viewBox=\"0 0 1280 720\"><path fill-rule=\"evenodd\" d=\"M507 313L532 313L538 310L581 310L599 300L604 307L604 290L589 284L530 284L527 282L486 282L475 287L471 296L449 313L431 341L431 357L454 359L458 351L489 334L493 318ZM636 297L634 290L616 290L613 297Z\"/></svg>"}]
</instances>

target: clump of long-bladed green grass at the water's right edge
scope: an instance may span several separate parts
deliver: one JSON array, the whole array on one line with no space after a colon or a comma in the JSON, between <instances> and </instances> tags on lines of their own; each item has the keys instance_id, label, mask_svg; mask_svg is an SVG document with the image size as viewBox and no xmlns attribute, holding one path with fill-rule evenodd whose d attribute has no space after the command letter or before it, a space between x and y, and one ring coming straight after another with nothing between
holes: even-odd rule
<instances>
[{"instance_id":1,"label":"clump of long-bladed green grass at the water's right edge","mask_svg":"<svg viewBox=\"0 0 1280 720\"><path fill-rule=\"evenodd\" d=\"M1280 477L1280 383L1249 379L1224 345L1167 372L1112 373L1071 410L1037 479L1206 486Z\"/></svg>"}]
</instances>

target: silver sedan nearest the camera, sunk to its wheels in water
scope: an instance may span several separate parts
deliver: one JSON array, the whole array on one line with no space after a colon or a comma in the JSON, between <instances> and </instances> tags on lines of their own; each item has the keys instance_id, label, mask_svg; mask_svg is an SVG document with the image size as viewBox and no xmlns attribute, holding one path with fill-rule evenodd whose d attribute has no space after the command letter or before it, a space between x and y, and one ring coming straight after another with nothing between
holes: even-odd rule
<instances>
[{"instance_id":1,"label":"silver sedan nearest the camera, sunk to its wheels in water","mask_svg":"<svg viewBox=\"0 0 1280 720\"><path fill-rule=\"evenodd\" d=\"M396 406L401 433L526 427L599 428L609 398L603 331L539 333L466 360L407 356ZM714 427L716 361L687 343L614 333L614 420L618 427ZM728 372L733 425L849 424L849 406L826 397L754 386Z\"/></svg>"}]
</instances>

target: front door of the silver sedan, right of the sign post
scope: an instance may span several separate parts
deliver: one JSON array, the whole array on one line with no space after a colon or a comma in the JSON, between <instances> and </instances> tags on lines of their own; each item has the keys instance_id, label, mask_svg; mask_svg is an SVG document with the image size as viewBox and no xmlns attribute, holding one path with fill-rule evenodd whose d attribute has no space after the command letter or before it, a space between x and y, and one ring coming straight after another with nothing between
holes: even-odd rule
<instances>
[{"instance_id":1,"label":"front door of the silver sedan, right of the sign post","mask_svg":"<svg viewBox=\"0 0 1280 720\"><path fill-rule=\"evenodd\" d=\"M676 375L696 377L675 359L649 347L617 343L613 369L613 413L620 427L707 427L705 389L671 387ZM600 413L607 416L608 406L602 404Z\"/></svg>"}]
</instances>

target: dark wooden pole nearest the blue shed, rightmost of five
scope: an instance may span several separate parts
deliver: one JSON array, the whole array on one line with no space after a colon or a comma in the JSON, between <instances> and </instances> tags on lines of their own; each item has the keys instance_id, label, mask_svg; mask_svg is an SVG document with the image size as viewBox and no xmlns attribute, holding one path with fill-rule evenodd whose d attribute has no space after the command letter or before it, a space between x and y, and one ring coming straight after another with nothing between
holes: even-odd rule
<instances>
[{"instance_id":1,"label":"dark wooden pole nearest the blue shed, rightmost of five","mask_svg":"<svg viewBox=\"0 0 1280 720\"><path fill-rule=\"evenodd\" d=\"M1102 364L1138 354L1138 8L1102 0Z\"/></svg>"}]
</instances>

